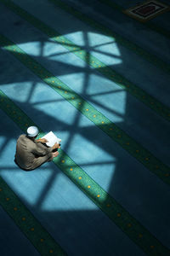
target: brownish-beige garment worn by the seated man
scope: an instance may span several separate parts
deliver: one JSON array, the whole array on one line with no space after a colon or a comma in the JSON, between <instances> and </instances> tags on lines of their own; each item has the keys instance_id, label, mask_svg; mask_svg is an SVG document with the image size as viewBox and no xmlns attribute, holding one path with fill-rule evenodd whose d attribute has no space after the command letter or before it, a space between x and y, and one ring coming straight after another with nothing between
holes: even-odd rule
<instances>
[{"instance_id":1,"label":"brownish-beige garment worn by the seated man","mask_svg":"<svg viewBox=\"0 0 170 256\"><path fill-rule=\"evenodd\" d=\"M20 135L16 145L15 161L21 169L33 170L53 160L52 151L53 148L47 148L42 143L32 141L26 135Z\"/></svg>"}]
</instances>

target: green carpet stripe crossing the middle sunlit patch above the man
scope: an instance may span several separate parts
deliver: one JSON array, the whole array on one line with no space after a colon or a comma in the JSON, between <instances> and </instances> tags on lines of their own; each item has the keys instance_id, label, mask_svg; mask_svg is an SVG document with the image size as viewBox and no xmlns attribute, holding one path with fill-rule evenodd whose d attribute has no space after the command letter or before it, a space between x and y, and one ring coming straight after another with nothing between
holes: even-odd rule
<instances>
[{"instance_id":1,"label":"green carpet stripe crossing the middle sunlit patch above the man","mask_svg":"<svg viewBox=\"0 0 170 256\"><path fill-rule=\"evenodd\" d=\"M43 82L58 92L60 96L64 97L66 101L70 102L72 106L77 108L77 110L90 119L102 131L105 131L111 139L139 160L139 162L148 168L150 172L153 172L157 177L160 177L163 182L170 184L170 168L162 163L161 160L158 160L150 153L150 151L133 140L132 137L129 137L125 131L122 131L118 126L111 122L110 119L107 119L105 115L86 102L74 90L71 90L66 84L54 77L52 73L49 73L48 70L42 67L37 61L32 59L29 55L26 55L20 47L8 40L8 38L0 35L0 44L3 44L4 49L7 49L8 52L13 54L19 61L28 67L31 72L35 73Z\"/></svg>"}]
</instances>

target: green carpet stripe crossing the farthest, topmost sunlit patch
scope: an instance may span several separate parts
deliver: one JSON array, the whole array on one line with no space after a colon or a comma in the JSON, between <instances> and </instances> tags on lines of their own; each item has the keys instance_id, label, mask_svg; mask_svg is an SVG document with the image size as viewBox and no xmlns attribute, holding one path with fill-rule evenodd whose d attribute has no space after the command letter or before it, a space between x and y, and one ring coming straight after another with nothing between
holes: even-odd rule
<instances>
[{"instance_id":1,"label":"green carpet stripe crossing the farthest, topmost sunlit patch","mask_svg":"<svg viewBox=\"0 0 170 256\"><path fill-rule=\"evenodd\" d=\"M70 50L73 54L77 55L77 57L82 59L82 61L86 61L91 67L96 68L97 71L105 75L107 79L111 79L117 85L121 86L124 90L127 90L127 92L129 92L132 96L135 96L140 102L143 102L147 107L151 108L156 113L161 115L162 118L170 121L170 108L156 100L155 97L150 96L144 90L140 89L135 84L123 78L122 75L116 73L110 67L107 67L103 62L99 61L93 55L89 55L87 51L81 49L76 44L73 44L64 36L61 36L58 32L44 24L41 20L38 20L33 15L28 14L26 10L21 9L9 0L0 1L5 3L9 9L12 9L14 11L14 13L20 15L23 19L27 20L33 26L37 27L40 31L48 35L49 38L53 39L58 44L61 44L63 47L65 47L65 49ZM5 43L5 40L3 38L1 39L1 42L4 45L7 44ZM13 43L11 42L10 44Z\"/></svg>"}]
</instances>

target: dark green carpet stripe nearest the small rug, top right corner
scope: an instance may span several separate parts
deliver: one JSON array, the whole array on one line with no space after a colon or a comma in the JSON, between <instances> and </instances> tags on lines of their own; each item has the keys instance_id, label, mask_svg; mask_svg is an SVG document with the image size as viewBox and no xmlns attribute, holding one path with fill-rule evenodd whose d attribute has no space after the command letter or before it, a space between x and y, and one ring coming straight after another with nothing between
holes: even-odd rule
<instances>
[{"instance_id":1,"label":"dark green carpet stripe nearest the small rug, top right corner","mask_svg":"<svg viewBox=\"0 0 170 256\"><path fill-rule=\"evenodd\" d=\"M100 3L104 3L105 5L107 4L108 6L110 6L112 9L117 9L119 11L122 12L125 10L124 8L122 8L121 5L114 3L111 0L98 0ZM135 4L134 4L135 5ZM133 7L133 3L132 3L132 7ZM125 14L124 14L125 15ZM126 15L127 16L127 15ZM129 16L127 16L129 17ZM133 19L134 20L134 19ZM134 20L136 22L139 22L138 20ZM139 22L141 24L141 22ZM157 26L155 23L151 22L151 21L147 21L146 23L142 23L144 26L150 28L151 30L160 33L161 35L165 36L166 38L170 38L170 32L161 27L161 26Z\"/></svg>"}]
</instances>

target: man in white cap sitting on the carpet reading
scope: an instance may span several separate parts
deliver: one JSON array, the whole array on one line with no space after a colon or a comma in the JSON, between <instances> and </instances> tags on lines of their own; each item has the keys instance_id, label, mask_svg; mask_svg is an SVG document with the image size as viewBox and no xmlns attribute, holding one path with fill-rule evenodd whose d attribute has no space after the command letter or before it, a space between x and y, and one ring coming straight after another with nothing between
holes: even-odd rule
<instances>
[{"instance_id":1,"label":"man in white cap sitting on the carpet reading","mask_svg":"<svg viewBox=\"0 0 170 256\"><path fill-rule=\"evenodd\" d=\"M41 166L47 161L51 161L59 154L54 149L59 148L55 143L53 147L46 147L42 143L48 143L46 139L37 139L38 129L36 126L30 126L26 135L20 135L17 140L15 163L23 170L31 171Z\"/></svg>"}]
</instances>

